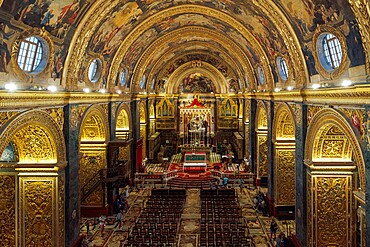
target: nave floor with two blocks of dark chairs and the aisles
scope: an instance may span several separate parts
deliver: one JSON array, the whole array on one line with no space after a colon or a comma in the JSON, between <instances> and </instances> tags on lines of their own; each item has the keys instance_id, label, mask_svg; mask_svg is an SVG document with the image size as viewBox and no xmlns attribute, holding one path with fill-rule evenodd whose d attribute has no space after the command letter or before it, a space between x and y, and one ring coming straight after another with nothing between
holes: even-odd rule
<instances>
[{"instance_id":1,"label":"nave floor with two blocks of dark chairs and the aisles","mask_svg":"<svg viewBox=\"0 0 370 247\"><path fill-rule=\"evenodd\" d=\"M103 234L98 218L82 219L81 234L86 237L81 246L275 246L269 231L273 217L257 210L253 203L253 198L266 189L168 189L133 189L122 226L118 226L116 215L109 216ZM177 201L175 205L183 205L181 213L174 212L172 207L167 208L169 216L163 216L166 210L154 213L161 207L159 201L165 199L162 205L166 204L169 194ZM174 208L178 209L178 206ZM236 209L234 214L232 208ZM274 219L278 224L277 235L295 234L294 221ZM90 224L89 232L87 224ZM236 234L240 234L238 238Z\"/></svg>"}]
</instances>

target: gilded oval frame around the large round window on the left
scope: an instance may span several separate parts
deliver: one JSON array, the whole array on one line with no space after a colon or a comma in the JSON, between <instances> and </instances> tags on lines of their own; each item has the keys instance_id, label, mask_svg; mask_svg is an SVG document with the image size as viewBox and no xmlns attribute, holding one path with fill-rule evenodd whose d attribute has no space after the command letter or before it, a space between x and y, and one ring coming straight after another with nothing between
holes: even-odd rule
<instances>
[{"instance_id":1,"label":"gilded oval frame around the large round window on the left","mask_svg":"<svg viewBox=\"0 0 370 247\"><path fill-rule=\"evenodd\" d=\"M43 69L42 72L37 73L35 75L23 71L19 67L18 62L17 62L18 51L19 51L19 48L20 48L20 45L21 45L22 41L24 39L28 38L28 37L31 37L31 36L36 36L38 38L42 38L42 40L44 42L46 42L46 44L47 44L47 49L43 49L44 50L44 56L45 56L45 54L48 55L47 56L46 67ZM47 53L45 53L46 50L47 50ZM13 72L15 73L16 77L22 82L33 82L33 77L35 77L35 76L40 77L41 75L49 75L50 69L51 69L51 66L52 66L53 60L54 60L54 53L55 53L54 52L54 42L51 39L51 35L49 34L48 31L46 31L44 28L42 28L42 29L39 29L39 28L28 29L28 30L22 32L21 34L19 34L19 36L17 37L17 39L13 43L12 51L11 51L11 64L12 64Z\"/></svg>"}]
</instances>

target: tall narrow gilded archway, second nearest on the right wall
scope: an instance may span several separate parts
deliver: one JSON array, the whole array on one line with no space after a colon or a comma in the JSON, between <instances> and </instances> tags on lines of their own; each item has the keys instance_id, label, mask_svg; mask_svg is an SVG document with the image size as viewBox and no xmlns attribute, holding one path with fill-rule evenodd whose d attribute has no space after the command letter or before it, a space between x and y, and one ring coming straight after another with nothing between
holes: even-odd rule
<instances>
[{"instance_id":1,"label":"tall narrow gilded archway, second nearest on the right wall","mask_svg":"<svg viewBox=\"0 0 370 247\"><path fill-rule=\"evenodd\" d=\"M295 206L295 123L287 104L278 105L273 127L274 168L272 192L275 207ZM294 211L294 210L291 210Z\"/></svg>"}]
</instances>

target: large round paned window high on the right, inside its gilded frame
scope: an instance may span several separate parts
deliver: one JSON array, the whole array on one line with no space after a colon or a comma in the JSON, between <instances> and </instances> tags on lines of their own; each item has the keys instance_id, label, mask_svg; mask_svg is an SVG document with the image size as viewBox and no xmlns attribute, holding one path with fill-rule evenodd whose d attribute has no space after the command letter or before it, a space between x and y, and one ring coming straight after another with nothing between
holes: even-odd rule
<instances>
[{"instance_id":1,"label":"large round paned window high on the right, inside its gilded frame","mask_svg":"<svg viewBox=\"0 0 370 247\"><path fill-rule=\"evenodd\" d=\"M342 46L334 34L323 33L317 40L317 55L321 65L328 71L333 71L342 63Z\"/></svg>"}]
</instances>

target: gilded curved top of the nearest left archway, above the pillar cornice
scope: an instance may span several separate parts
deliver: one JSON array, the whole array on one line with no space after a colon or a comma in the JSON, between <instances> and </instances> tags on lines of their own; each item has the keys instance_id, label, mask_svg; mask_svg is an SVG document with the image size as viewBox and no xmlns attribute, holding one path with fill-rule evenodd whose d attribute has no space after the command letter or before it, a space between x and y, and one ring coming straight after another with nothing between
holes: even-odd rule
<instances>
[{"instance_id":1,"label":"gilded curved top of the nearest left archway, above the pillar cornice","mask_svg":"<svg viewBox=\"0 0 370 247\"><path fill-rule=\"evenodd\" d=\"M28 131L32 131L32 134L28 133ZM26 135L28 135L27 139L25 139ZM10 141L14 140L16 145L23 147L20 151L20 162L26 157L30 161L29 159L32 157L27 155L27 143L25 143L25 140L36 141L38 137L41 137L41 140L38 140L37 150L34 151L40 153L43 148L49 150L47 155L49 157L44 157L46 158L45 162L56 163L57 165L66 162L66 147L63 133L55 120L49 114L40 110L20 113L0 129L0 138L2 140L0 153L4 151ZM43 147L43 145L46 145L46 147ZM32 145L28 144L28 146L32 148ZM36 161L44 162L44 158L40 156Z\"/></svg>"}]
</instances>

